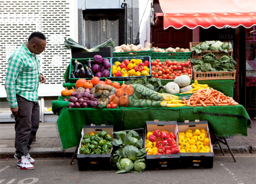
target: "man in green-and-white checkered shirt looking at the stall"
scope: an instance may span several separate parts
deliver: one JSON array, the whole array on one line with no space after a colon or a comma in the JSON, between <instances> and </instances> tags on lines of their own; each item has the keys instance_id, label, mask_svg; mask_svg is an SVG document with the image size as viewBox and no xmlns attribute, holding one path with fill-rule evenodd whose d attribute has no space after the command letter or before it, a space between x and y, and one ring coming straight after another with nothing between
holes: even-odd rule
<instances>
[{"instance_id":1,"label":"man in green-and-white checkered shirt looking at the stall","mask_svg":"<svg viewBox=\"0 0 256 184\"><path fill-rule=\"evenodd\" d=\"M38 103L39 82L46 82L39 71L38 55L46 50L46 37L42 32L32 32L9 57L5 90L11 112L15 115L15 154L18 169L34 169L35 160L28 151L35 139L40 121Z\"/></svg>"}]
</instances>

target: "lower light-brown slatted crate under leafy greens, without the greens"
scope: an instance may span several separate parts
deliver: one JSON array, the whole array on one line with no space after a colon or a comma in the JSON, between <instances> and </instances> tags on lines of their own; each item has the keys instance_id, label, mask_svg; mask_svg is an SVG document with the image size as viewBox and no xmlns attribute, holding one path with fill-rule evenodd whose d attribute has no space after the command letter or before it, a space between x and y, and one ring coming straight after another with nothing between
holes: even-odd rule
<instances>
[{"instance_id":1,"label":"lower light-brown slatted crate under leafy greens, without the greens","mask_svg":"<svg viewBox=\"0 0 256 184\"><path fill-rule=\"evenodd\" d=\"M193 80L205 81L205 80L235 80L236 70L233 72L196 72L194 66L193 69Z\"/></svg>"}]
</instances>

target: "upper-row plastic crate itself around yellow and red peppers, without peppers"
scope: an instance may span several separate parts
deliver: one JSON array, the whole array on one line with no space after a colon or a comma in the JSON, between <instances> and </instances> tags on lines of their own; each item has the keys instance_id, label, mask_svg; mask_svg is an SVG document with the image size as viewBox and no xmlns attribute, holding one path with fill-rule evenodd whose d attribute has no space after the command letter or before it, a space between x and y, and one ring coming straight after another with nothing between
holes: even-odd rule
<instances>
[{"instance_id":1,"label":"upper-row plastic crate itself around yellow and red peppers, without peppers","mask_svg":"<svg viewBox=\"0 0 256 184\"><path fill-rule=\"evenodd\" d=\"M137 57L112 57L110 59L110 64L111 66L114 65L115 61L119 61L119 62L123 62L124 60L132 60L132 59L135 59L135 60L138 60L138 59L141 59L143 64L144 64L144 61L149 61L149 66L148 68L150 69L150 75L147 76L148 78L151 78L151 57L150 56L137 56ZM112 67L111 67L112 69ZM131 80L131 79L134 79L134 78L141 78L141 77L144 77L144 76L133 76L133 77L114 77L112 76L112 70L110 72L110 78L112 78L112 80L115 80L115 81L127 81L127 80Z\"/></svg>"}]
</instances>

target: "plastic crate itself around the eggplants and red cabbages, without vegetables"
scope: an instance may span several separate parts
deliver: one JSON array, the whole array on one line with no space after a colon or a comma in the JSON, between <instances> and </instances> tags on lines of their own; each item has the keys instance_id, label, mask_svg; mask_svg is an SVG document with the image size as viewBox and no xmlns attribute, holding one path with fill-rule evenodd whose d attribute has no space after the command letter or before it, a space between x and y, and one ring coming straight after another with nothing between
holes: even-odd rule
<instances>
[{"instance_id":1,"label":"plastic crate itself around the eggplants and red cabbages, without vegetables","mask_svg":"<svg viewBox=\"0 0 256 184\"><path fill-rule=\"evenodd\" d=\"M108 58L109 62L110 62L110 57L103 57L103 59L105 59L105 58ZM89 59L91 60L91 64L92 64L92 67L93 67L93 65L95 64L93 62L93 57L92 58L72 58L71 59L70 68L69 68L69 82L76 83L76 81L80 79L80 78L72 78L71 77L72 70L75 70L75 61L77 60L78 62L81 62L81 64L83 64L84 66L87 66L87 63L88 63ZM103 66L103 64L100 64L100 66ZM109 73L111 73L111 71L112 71L112 68L109 69ZM110 74L109 74L109 77L100 77L100 80L102 81L102 80L105 80L106 78L110 79ZM92 78L85 78L85 79L86 80L91 80Z\"/></svg>"}]
</instances>

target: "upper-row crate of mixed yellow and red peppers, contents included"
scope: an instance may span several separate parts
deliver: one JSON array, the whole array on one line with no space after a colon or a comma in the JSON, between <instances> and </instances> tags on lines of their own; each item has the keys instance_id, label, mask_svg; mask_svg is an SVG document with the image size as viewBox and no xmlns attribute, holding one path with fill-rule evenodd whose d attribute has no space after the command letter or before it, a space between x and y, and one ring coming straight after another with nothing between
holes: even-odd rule
<instances>
[{"instance_id":1,"label":"upper-row crate of mixed yellow and red peppers, contents included","mask_svg":"<svg viewBox=\"0 0 256 184\"><path fill-rule=\"evenodd\" d=\"M110 59L112 80L129 80L132 78L151 77L150 56L112 57Z\"/></svg>"}]
</instances>

